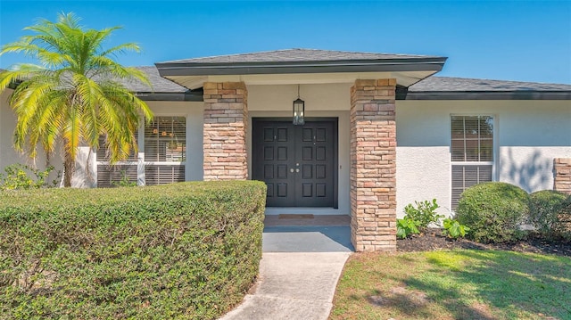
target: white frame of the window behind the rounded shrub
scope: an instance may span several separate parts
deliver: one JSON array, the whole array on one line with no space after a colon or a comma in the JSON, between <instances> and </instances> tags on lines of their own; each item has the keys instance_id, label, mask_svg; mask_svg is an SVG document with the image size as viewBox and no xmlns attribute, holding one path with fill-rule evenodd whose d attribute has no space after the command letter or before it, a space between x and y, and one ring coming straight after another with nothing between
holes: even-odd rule
<instances>
[{"instance_id":1,"label":"white frame of the window behind the rounded shrub","mask_svg":"<svg viewBox=\"0 0 571 320\"><path fill-rule=\"evenodd\" d=\"M491 117L492 118L492 160L491 161L454 161L452 160L452 118L453 117ZM498 115L495 113L450 113L448 115L448 143L449 143L449 158L450 161L450 170L449 170L449 182L450 188L450 208L451 211L454 212L455 208L452 207L453 202L453 187L452 187L452 167L454 166L492 166L492 180L491 181L498 181L497 177L497 161L498 161L498 154L499 154L499 146L498 146Z\"/></svg>"}]
</instances>

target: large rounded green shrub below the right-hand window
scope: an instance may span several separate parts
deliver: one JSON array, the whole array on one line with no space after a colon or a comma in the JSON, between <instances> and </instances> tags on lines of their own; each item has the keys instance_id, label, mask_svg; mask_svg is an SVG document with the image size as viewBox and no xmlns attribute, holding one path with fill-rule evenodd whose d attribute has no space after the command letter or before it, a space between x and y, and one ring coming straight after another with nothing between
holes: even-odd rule
<instances>
[{"instance_id":1,"label":"large rounded green shrub below the right-hand window","mask_svg":"<svg viewBox=\"0 0 571 320\"><path fill-rule=\"evenodd\" d=\"M513 242L525 234L519 226L528 213L529 195L516 185L489 182L462 193L456 219L469 226L468 238L477 242Z\"/></svg>"}]
</instances>

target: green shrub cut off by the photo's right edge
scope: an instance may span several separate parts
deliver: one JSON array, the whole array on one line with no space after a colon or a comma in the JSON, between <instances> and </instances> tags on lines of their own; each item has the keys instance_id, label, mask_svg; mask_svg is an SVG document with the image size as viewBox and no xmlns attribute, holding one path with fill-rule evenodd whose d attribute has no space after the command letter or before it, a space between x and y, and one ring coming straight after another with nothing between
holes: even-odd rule
<instances>
[{"instance_id":1,"label":"green shrub cut off by the photo's right edge","mask_svg":"<svg viewBox=\"0 0 571 320\"><path fill-rule=\"evenodd\" d=\"M542 237L550 240L571 239L568 227L571 217L571 197L554 190L530 194L529 222Z\"/></svg>"}]
</instances>

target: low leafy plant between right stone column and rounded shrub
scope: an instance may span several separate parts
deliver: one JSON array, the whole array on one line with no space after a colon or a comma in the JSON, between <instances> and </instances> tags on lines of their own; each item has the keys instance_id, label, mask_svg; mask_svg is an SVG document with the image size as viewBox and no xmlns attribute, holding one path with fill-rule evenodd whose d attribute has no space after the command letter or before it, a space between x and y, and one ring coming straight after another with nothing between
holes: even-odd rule
<instances>
[{"instance_id":1,"label":"low leafy plant between right stone column and rounded shrub","mask_svg":"<svg viewBox=\"0 0 571 320\"><path fill-rule=\"evenodd\" d=\"M408 204L404 207L406 215L396 220L397 236L402 239L408 237L410 234L420 234L422 231L431 224L437 224L439 219L444 217L437 214L436 209L440 206L436 203L436 199L432 201L414 201L416 207Z\"/></svg>"}]
</instances>

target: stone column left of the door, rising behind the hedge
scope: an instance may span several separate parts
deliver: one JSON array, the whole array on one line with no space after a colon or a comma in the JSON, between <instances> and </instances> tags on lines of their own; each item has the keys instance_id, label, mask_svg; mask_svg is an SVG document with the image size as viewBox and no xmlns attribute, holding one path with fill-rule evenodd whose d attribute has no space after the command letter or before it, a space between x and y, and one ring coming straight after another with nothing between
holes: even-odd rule
<instances>
[{"instance_id":1,"label":"stone column left of the door, rising behind the hedge","mask_svg":"<svg viewBox=\"0 0 571 320\"><path fill-rule=\"evenodd\" d=\"M204 94L204 180L244 180L248 177L244 82L206 82Z\"/></svg>"}]
</instances>

